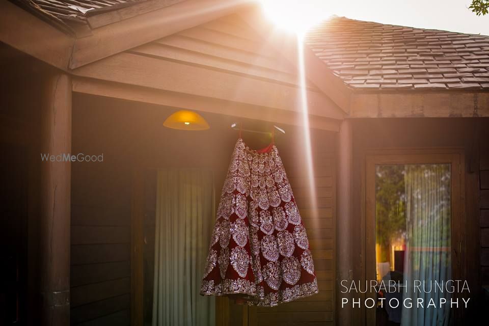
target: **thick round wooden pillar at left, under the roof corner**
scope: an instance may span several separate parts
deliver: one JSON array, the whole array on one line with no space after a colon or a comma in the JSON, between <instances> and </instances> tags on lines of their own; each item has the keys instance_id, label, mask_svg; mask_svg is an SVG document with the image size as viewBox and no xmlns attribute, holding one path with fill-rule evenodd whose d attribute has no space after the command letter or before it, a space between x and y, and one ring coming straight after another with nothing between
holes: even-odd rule
<instances>
[{"instance_id":1,"label":"thick round wooden pillar at left, under the roof corner","mask_svg":"<svg viewBox=\"0 0 489 326\"><path fill-rule=\"evenodd\" d=\"M71 77L46 78L41 114L41 153L71 153ZM58 157L60 158L60 157ZM41 159L39 157L39 159ZM40 324L70 324L70 161L41 161Z\"/></svg>"}]
</instances>

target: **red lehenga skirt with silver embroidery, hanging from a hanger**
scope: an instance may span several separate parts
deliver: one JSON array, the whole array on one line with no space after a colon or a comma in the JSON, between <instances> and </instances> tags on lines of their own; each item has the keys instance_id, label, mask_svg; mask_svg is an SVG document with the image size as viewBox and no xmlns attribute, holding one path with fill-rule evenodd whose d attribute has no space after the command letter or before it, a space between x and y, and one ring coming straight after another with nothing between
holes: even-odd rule
<instances>
[{"instance_id":1,"label":"red lehenga skirt with silver embroidery, hanging from a hanger","mask_svg":"<svg viewBox=\"0 0 489 326\"><path fill-rule=\"evenodd\" d=\"M275 306L318 292L301 215L277 147L234 147L201 284L203 295Z\"/></svg>"}]
</instances>

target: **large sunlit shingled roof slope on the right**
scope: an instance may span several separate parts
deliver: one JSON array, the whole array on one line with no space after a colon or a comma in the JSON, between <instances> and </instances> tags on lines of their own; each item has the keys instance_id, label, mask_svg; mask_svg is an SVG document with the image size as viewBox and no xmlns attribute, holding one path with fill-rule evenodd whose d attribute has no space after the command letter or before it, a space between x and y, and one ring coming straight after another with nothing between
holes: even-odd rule
<instances>
[{"instance_id":1,"label":"large sunlit shingled roof slope on the right","mask_svg":"<svg viewBox=\"0 0 489 326\"><path fill-rule=\"evenodd\" d=\"M334 17L306 43L355 90L489 90L489 36Z\"/></svg>"}]
</instances>

